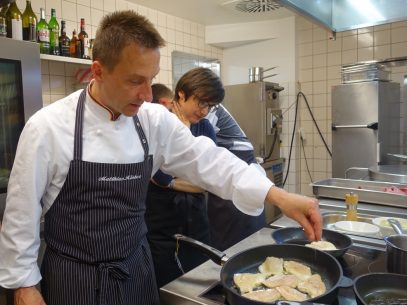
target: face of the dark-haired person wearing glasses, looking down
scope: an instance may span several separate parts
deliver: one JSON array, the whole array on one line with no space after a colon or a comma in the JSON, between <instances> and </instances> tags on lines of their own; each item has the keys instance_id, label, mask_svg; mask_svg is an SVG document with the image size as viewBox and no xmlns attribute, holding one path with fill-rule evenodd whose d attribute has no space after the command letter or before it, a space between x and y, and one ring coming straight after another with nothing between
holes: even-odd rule
<instances>
[{"instance_id":1,"label":"face of the dark-haired person wearing glasses, looking down","mask_svg":"<svg viewBox=\"0 0 407 305\"><path fill-rule=\"evenodd\" d=\"M195 124L208 115L216 107L216 104L200 101L195 95L185 99L184 93L179 92L178 103L183 116L191 123Z\"/></svg>"}]
</instances>

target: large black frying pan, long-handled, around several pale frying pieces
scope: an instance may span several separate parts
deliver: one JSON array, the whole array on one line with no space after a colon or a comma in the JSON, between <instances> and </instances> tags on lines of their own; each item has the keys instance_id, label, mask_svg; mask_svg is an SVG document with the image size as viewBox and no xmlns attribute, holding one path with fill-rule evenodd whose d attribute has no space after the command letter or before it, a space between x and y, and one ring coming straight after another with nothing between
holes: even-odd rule
<instances>
[{"instance_id":1,"label":"large black frying pan, long-handled, around several pale frying pieces","mask_svg":"<svg viewBox=\"0 0 407 305\"><path fill-rule=\"evenodd\" d=\"M300 245L265 245L250 248L227 257L225 253L205 245L195 239L181 234L175 234L178 242L186 242L203 251L208 257L222 265L220 282L224 288L225 296L231 305L264 305L264 302L250 300L243 297L233 284L233 275L236 273L257 273L258 267L268 256L294 260L308 265L313 273L319 273L326 286L326 292L316 298L307 300L316 303L332 303L338 295L339 287L352 286L352 280L343 276L338 261L325 252ZM180 247L182 251L182 246ZM272 303L268 303L272 304Z\"/></svg>"}]
</instances>

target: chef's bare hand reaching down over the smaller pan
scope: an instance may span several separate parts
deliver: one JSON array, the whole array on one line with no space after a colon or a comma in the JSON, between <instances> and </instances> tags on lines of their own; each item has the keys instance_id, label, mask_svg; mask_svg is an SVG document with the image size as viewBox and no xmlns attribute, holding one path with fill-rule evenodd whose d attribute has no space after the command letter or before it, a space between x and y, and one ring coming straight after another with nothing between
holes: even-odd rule
<instances>
[{"instance_id":1,"label":"chef's bare hand reaching down over the smaller pan","mask_svg":"<svg viewBox=\"0 0 407 305\"><path fill-rule=\"evenodd\" d=\"M286 216L297 221L309 240L320 240L322 237L322 216L318 200L272 186L267 193L266 201L275 204Z\"/></svg>"}]
</instances>

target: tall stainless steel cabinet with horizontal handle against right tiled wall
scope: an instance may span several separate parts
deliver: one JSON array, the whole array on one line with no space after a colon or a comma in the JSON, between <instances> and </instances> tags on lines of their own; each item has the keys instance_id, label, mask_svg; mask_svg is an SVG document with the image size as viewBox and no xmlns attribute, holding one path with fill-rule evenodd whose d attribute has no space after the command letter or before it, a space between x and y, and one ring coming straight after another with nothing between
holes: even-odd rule
<instances>
[{"instance_id":1,"label":"tall stainless steel cabinet with horizontal handle against right tiled wall","mask_svg":"<svg viewBox=\"0 0 407 305\"><path fill-rule=\"evenodd\" d=\"M370 81L332 89L332 176L392 164L401 150L400 84Z\"/></svg>"}]
</instances>

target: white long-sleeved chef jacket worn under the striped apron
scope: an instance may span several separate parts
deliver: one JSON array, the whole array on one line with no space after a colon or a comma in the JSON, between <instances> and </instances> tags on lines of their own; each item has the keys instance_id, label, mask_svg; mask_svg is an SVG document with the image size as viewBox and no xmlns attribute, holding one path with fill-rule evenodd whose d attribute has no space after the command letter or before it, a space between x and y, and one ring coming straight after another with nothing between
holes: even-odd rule
<instances>
[{"instance_id":1,"label":"white long-sleeved chef jacket worn under the striped apron","mask_svg":"<svg viewBox=\"0 0 407 305\"><path fill-rule=\"evenodd\" d=\"M41 280L37 265L40 219L61 190L73 159L76 106L81 90L35 113L20 136L0 232L0 286L28 287ZM138 117L159 168L233 200L244 213L259 215L272 182L254 167L194 137L165 107L144 103ZM144 151L132 117L116 121L87 94L83 161L137 163ZM56 271L57 272L57 271Z\"/></svg>"}]
</instances>

